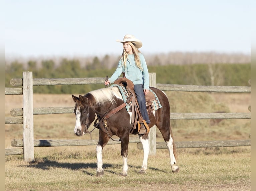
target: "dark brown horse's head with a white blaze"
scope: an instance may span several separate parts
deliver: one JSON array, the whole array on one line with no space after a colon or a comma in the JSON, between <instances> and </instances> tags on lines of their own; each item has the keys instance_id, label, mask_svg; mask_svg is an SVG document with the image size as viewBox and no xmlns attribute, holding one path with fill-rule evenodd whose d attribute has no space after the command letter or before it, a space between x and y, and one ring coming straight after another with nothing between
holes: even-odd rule
<instances>
[{"instance_id":1,"label":"dark brown horse's head with a white blaze","mask_svg":"<svg viewBox=\"0 0 256 191\"><path fill-rule=\"evenodd\" d=\"M72 95L75 101L74 113L76 114L76 126L74 132L77 136L82 136L88 131L89 126L95 119L95 111L89 106L88 98L82 95L76 97Z\"/></svg>"}]
</instances>

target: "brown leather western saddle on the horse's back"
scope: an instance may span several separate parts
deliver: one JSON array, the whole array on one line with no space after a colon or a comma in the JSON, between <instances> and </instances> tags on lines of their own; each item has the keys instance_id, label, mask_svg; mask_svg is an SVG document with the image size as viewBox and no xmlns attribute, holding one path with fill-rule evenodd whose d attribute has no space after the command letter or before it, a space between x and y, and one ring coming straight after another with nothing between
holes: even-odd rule
<instances>
[{"instance_id":1,"label":"brown leather western saddle on the horse's back","mask_svg":"<svg viewBox=\"0 0 256 191\"><path fill-rule=\"evenodd\" d=\"M117 80L115 80L115 82L113 84L117 84L119 86L123 86L127 93L128 93L128 98L125 101L127 104L129 104L131 102L131 108L130 111L132 112L132 124L133 124L133 128L131 129L131 132L133 132L134 129L136 129L136 121L137 121L137 125L138 125L138 132L140 131L140 124L143 123L147 129L147 133L149 132L149 127L145 121L145 119L143 119L140 109L139 109L139 104L137 102L137 97L135 95L135 92L133 90L134 88L134 84L132 81L130 81L129 79L127 79L125 77L125 73L122 72L123 77L122 78L118 78ZM151 101L153 101L155 99L154 94L151 91L148 91L148 93L145 95L145 100L147 102L147 110L148 110L148 115L150 116L151 111L152 111L152 104Z\"/></svg>"}]
</instances>

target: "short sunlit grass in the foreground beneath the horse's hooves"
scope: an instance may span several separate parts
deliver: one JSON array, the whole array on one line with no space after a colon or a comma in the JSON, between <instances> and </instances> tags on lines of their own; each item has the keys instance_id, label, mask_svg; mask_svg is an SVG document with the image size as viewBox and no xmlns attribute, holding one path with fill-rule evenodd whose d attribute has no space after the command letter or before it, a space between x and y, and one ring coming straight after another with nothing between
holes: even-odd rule
<instances>
[{"instance_id":1,"label":"short sunlit grass in the foreground beneath the horse's hooves","mask_svg":"<svg viewBox=\"0 0 256 191\"><path fill-rule=\"evenodd\" d=\"M105 175L96 176L96 156L87 147L58 148L27 164L19 156L6 160L6 190L239 190L250 189L250 148L178 149L179 173L173 174L166 149L149 156L146 174L138 174L143 153L130 145L128 176L121 176L118 145L103 152ZM95 150L95 148L94 148ZM107 151L107 152L105 152ZM9 158L9 157L7 157ZM208 189L206 189L208 187Z\"/></svg>"}]
</instances>

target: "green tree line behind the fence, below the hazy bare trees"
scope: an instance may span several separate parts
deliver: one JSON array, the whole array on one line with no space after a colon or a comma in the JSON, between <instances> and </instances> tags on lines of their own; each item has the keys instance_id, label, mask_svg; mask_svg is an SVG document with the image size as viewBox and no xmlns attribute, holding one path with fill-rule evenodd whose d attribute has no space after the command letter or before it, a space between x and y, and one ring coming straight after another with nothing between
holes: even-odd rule
<instances>
[{"instance_id":1,"label":"green tree line behind the fence, below the hazy bare trees","mask_svg":"<svg viewBox=\"0 0 256 191\"><path fill-rule=\"evenodd\" d=\"M156 58L156 57L155 57ZM5 87L10 86L10 79L22 78L23 71L33 72L33 78L93 78L109 77L116 69L119 57L93 57L87 63L79 59L63 58L56 63L53 59L28 60L26 63L18 60L6 64ZM147 59L146 59L147 61ZM246 60L245 60L246 61ZM244 61L244 62L245 62ZM155 62L148 60L147 63ZM115 63L110 65L110 63ZM202 86L248 86L251 78L251 65L248 63L190 63L164 64L155 62L148 64L149 72L156 73L156 83L184 84ZM65 85L33 87L34 93L44 94L85 94L91 90L103 88L104 85Z\"/></svg>"}]
</instances>

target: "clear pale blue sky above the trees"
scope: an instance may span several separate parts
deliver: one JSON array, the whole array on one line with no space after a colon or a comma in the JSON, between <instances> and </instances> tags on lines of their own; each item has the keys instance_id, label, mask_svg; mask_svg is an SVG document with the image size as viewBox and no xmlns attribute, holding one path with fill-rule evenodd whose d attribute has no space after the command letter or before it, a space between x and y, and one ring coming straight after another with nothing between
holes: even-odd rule
<instances>
[{"instance_id":1,"label":"clear pale blue sky above the trees","mask_svg":"<svg viewBox=\"0 0 256 191\"><path fill-rule=\"evenodd\" d=\"M125 34L142 53L251 52L249 0L5 1L6 56L122 53Z\"/></svg>"}]
</instances>

